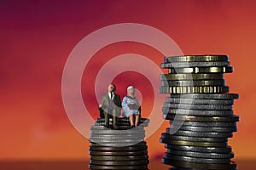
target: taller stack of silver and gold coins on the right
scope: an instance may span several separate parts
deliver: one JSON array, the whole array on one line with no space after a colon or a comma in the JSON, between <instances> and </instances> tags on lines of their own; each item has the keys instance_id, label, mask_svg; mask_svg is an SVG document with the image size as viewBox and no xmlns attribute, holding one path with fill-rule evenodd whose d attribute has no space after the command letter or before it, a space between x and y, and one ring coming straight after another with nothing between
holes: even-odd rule
<instances>
[{"instance_id":1,"label":"taller stack of silver and gold coins on the right","mask_svg":"<svg viewBox=\"0 0 256 170\"><path fill-rule=\"evenodd\" d=\"M232 110L238 94L230 94L224 83L224 73L233 72L228 59L174 56L161 64L169 69L160 75L160 94L171 94L162 111L172 128L166 128L160 142L167 149L162 162L171 169L236 169L228 138L239 121Z\"/></svg>"}]
</instances>

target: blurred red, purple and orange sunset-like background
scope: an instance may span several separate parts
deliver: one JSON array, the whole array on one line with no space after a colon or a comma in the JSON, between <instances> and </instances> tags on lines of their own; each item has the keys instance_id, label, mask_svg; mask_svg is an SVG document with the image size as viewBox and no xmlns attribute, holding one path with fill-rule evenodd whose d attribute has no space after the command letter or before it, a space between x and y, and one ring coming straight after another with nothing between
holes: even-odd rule
<instances>
[{"instance_id":1,"label":"blurred red, purple and orange sunset-like background","mask_svg":"<svg viewBox=\"0 0 256 170\"><path fill-rule=\"evenodd\" d=\"M240 94L234 111L241 116L238 132L230 139L230 145L240 169L254 168L255 8L253 0L2 0L0 167L43 169L45 165L40 162L45 161L52 163L48 164L49 167L56 167L55 162L63 162L59 165L63 166L62 169L68 166L87 168L90 143L73 127L64 110L62 71L68 55L84 37L104 26L129 22L153 26L165 32L183 54L229 54L235 71L225 74L225 80L231 93ZM90 108L90 115L94 118L98 116L94 94L97 71L109 59L128 53L146 56L156 65L163 62L163 54L143 43L117 42L100 49L86 65L81 84L84 105ZM125 88L130 84L140 90L143 117L147 117L154 100L152 86L145 86L149 83L147 77L135 71L125 71L113 82L121 97L125 96ZM162 119L161 112L159 118ZM168 126L168 122L164 122L147 139L150 169L168 167L160 163L166 149L158 142L160 133ZM16 163L10 165L9 162Z\"/></svg>"}]
</instances>

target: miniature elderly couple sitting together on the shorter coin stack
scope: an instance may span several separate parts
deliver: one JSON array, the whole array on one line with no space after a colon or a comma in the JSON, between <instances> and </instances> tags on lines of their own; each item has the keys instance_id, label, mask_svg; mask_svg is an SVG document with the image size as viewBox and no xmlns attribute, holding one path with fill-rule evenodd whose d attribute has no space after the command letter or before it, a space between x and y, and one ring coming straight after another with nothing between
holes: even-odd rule
<instances>
[{"instance_id":1,"label":"miniature elderly couple sitting together on the shorter coin stack","mask_svg":"<svg viewBox=\"0 0 256 170\"><path fill-rule=\"evenodd\" d=\"M109 126L109 118L112 117L113 129L118 128L118 117L121 115L123 108L123 116L129 117L131 128L137 127L139 122L141 106L135 97L135 87L129 86L127 88L127 95L121 102L120 96L115 94L116 87L113 83L108 86L108 94L102 96L102 103L98 109L103 112L105 119L105 127Z\"/></svg>"}]
</instances>

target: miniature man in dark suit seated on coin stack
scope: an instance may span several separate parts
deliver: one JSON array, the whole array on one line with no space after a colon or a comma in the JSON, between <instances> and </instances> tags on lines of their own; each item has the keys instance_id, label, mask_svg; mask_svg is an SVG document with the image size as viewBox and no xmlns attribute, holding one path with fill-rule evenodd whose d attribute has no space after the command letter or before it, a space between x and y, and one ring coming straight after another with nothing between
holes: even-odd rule
<instances>
[{"instance_id":1,"label":"miniature man in dark suit seated on coin stack","mask_svg":"<svg viewBox=\"0 0 256 170\"><path fill-rule=\"evenodd\" d=\"M113 83L108 86L108 94L102 96L102 103L99 105L99 109L104 111L105 127L109 126L109 118L112 116L113 128L117 129L117 119L121 114L121 98L118 94L115 94L116 87Z\"/></svg>"}]
</instances>

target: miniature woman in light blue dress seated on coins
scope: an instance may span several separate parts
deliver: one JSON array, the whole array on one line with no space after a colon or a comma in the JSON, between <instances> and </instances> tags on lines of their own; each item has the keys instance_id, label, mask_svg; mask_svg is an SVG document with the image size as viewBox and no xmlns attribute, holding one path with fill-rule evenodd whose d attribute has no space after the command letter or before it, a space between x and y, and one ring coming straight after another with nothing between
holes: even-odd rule
<instances>
[{"instance_id":1,"label":"miniature woman in light blue dress seated on coins","mask_svg":"<svg viewBox=\"0 0 256 170\"><path fill-rule=\"evenodd\" d=\"M134 94L134 86L129 86L127 88L127 95L124 97L122 102L123 116L129 117L131 128L137 127L141 113L140 103Z\"/></svg>"}]
</instances>

